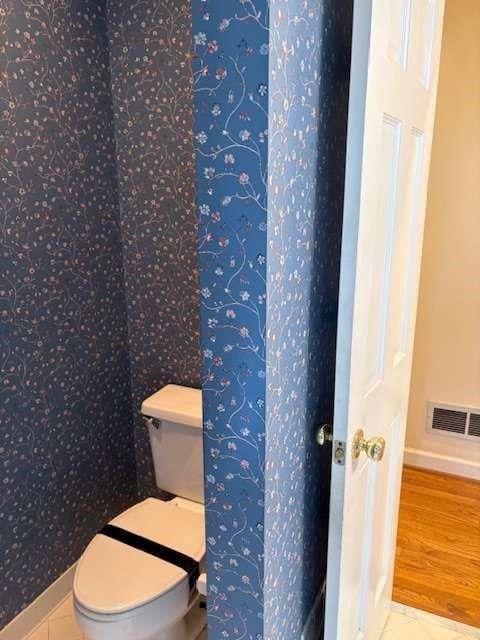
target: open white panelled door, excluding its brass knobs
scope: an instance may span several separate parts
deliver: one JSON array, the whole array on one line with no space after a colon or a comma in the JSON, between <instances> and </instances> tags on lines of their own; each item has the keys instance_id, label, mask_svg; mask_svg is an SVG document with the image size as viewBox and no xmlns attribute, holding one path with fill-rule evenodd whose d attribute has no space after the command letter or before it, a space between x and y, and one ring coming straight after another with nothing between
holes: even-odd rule
<instances>
[{"instance_id":1,"label":"open white panelled door, excluding its brass knobs","mask_svg":"<svg viewBox=\"0 0 480 640\"><path fill-rule=\"evenodd\" d=\"M326 640L377 640L391 601L444 0L354 7Z\"/></svg>"}]
</instances>

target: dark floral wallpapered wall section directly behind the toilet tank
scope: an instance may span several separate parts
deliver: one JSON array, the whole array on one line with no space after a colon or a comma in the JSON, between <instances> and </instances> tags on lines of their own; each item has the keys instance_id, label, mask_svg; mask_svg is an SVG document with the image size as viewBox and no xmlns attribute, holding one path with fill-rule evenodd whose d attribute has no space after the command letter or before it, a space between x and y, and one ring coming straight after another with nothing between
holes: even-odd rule
<instances>
[{"instance_id":1,"label":"dark floral wallpapered wall section directly behind the toilet tank","mask_svg":"<svg viewBox=\"0 0 480 640\"><path fill-rule=\"evenodd\" d=\"M108 1L139 490L156 492L142 400L200 386L190 0Z\"/></svg>"}]
</instances>

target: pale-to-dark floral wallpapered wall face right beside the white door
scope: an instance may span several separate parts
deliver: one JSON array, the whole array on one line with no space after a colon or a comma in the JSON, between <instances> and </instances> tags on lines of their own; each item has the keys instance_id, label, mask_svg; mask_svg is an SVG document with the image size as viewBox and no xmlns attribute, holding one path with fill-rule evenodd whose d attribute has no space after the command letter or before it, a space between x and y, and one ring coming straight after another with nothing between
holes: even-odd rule
<instances>
[{"instance_id":1,"label":"pale-to-dark floral wallpapered wall face right beside the white door","mask_svg":"<svg viewBox=\"0 0 480 640\"><path fill-rule=\"evenodd\" d=\"M298 640L315 601L322 637L351 25L351 0L270 1L268 640Z\"/></svg>"}]
</instances>

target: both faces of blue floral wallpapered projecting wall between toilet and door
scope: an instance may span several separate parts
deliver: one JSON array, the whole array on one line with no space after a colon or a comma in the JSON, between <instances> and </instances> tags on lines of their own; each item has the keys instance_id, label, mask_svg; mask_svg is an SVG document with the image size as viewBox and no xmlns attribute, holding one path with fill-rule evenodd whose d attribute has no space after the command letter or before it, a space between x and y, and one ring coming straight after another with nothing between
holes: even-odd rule
<instances>
[{"instance_id":1,"label":"both faces of blue floral wallpapered projecting wall between toilet and door","mask_svg":"<svg viewBox=\"0 0 480 640\"><path fill-rule=\"evenodd\" d=\"M298 640L326 571L352 7L193 7L209 638Z\"/></svg>"}]
</instances>

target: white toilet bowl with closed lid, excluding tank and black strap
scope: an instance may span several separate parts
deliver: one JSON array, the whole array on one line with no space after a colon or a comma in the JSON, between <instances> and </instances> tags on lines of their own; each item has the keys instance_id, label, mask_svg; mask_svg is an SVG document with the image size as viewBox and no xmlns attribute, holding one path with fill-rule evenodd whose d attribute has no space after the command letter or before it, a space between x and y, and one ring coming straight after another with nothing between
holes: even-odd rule
<instances>
[{"instance_id":1,"label":"white toilet bowl with closed lid, excluding tank and black strap","mask_svg":"<svg viewBox=\"0 0 480 640\"><path fill-rule=\"evenodd\" d=\"M202 567L203 507L182 499L149 498L111 524L188 555ZM200 569L201 570L201 569ZM203 626L198 594L178 566L123 542L96 535L73 584L74 610L88 640L189 640ZM197 615L193 615L197 613Z\"/></svg>"}]
</instances>

